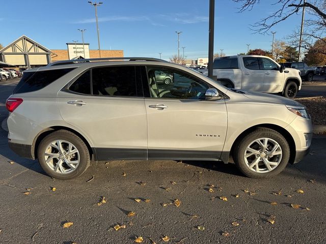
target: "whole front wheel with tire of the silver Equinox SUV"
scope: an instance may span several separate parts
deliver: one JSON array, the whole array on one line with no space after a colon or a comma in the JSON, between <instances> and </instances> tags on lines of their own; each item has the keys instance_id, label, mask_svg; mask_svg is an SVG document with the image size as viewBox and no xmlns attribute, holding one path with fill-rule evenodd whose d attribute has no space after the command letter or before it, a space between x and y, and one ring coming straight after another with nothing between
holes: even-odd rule
<instances>
[{"instance_id":1,"label":"whole front wheel with tire of the silver Equinox SUV","mask_svg":"<svg viewBox=\"0 0 326 244\"><path fill-rule=\"evenodd\" d=\"M258 128L244 136L233 150L236 166L251 178L267 178L279 174L289 158L290 148L286 139L268 128Z\"/></svg>"}]
</instances>

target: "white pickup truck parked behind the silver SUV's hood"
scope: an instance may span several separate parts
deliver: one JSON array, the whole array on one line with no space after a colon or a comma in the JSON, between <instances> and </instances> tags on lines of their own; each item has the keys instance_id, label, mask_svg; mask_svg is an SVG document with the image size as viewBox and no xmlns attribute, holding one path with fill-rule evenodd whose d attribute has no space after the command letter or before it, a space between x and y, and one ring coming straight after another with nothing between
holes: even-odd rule
<instances>
[{"instance_id":1,"label":"white pickup truck parked behind the silver SUV's hood","mask_svg":"<svg viewBox=\"0 0 326 244\"><path fill-rule=\"evenodd\" d=\"M203 72L207 75L207 72ZM213 75L227 87L295 98L301 89L300 71L280 66L258 55L235 55L214 59Z\"/></svg>"}]
</instances>

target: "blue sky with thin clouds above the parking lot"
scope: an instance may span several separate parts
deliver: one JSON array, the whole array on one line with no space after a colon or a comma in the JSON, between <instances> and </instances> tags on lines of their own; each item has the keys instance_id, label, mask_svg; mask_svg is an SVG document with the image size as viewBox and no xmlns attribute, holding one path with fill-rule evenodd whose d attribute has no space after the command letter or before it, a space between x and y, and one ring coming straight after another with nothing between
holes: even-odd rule
<instances>
[{"instance_id":1,"label":"blue sky with thin clouds above the parking lot","mask_svg":"<svg viewBox=\"0 0 326 244\"><path fill-rule=\"evenodd\" d=\"M2 0L3 1L3 0ZM276 0L275 0L276 1ZM253 34L250 24L273 12L273 0L260 1L252 11L238 13L231 0L215 1L214 52L227 55L250 48L270 49L270 35ZM88 0L11 0L2 5L0 43L8 45L26 35L49 49L66 49L72 40L82 42L78 28L87 29L85 42L97 49L94 7ZM94 1L93 1L94 2ZM207 57L209 0L102 0L98 7L101 49L123 49L125 56L168 59L185 46L187 58ZM273 28L283 39L301 23L301 13ZM6 32L6 34L4 33ZM4 35L5 34L5 35Z\"/></svg>"}]
</instances>

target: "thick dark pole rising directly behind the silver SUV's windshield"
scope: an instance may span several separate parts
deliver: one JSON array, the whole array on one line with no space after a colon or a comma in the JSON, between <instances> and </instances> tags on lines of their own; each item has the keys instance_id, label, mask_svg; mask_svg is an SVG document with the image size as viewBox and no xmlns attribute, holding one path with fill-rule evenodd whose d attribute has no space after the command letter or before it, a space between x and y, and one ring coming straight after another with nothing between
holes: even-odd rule
<instances>
[{"instance_id":1,"label":"thick dark pole rising directly behind the silver SUV's windshield","mask_svg":"<svg viewBox=\"0 0 326 244\"><path fill-rule=\"evenodd\" d=\"M209 0L208 77L213 78L215 0Z\"/></svg>"}]
</instances>

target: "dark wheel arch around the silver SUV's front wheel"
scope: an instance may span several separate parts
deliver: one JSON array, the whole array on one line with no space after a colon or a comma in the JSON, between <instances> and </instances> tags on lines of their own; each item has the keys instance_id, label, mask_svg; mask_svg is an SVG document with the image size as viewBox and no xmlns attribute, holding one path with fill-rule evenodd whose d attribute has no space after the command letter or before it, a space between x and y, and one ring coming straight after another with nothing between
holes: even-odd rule
<instances>
[{"instance_id":1,"label":"dark wheel arch around the silver SUV's front wheel","mask_svg":"<svg viewBox=\"0 0 326 244\"><path fill-rule=\"evenodd\" d=\"M277 132L279 132L282 136L285 137L286 141L289 143L289 147L290 147L290 159L289 159L289 163L293 164L294 160L295 160L295 154L296 154L296 150L295 150L295 142L293 137L291 136L291 134L285 130L283 127L280 127L278 125L273 125L273 124L260 124L260 125L255 125L252 126L250 128L248 128L247 130L243 131L240 135L238 135L238 137L235 139L235 141L233 142L232 146L231 146L231 150L228 156L229 157L233 155L233 151L234 151L234 146L236 145L236 143L238 141L240 141L244 136L248 135L249 133L255 131L257 128L268 128L271 130L275 130ZM225 163L226 157L224 156L224 158L222 159L222 161L224 161ZM232 158L233 161L233 158Z\"/></svg>"}]
</instances>

